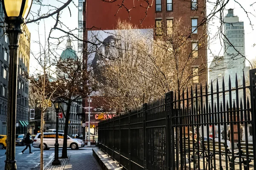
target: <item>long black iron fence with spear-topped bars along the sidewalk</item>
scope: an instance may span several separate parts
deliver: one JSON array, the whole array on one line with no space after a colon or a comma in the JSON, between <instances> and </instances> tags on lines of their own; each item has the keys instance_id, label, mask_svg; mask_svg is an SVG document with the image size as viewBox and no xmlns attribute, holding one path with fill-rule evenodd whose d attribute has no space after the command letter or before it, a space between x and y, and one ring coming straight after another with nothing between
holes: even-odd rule
<instances>
[{"instance_id":1,"label":"long black iron fence with spear-topped bars along the sidewalk","mask_svg":"<svg viewBox=\"0 0 256 170\"><path fill-rule=\"evenodd\" d=\"M100 122L99 146L127 170L253 170L255 73L250 85L236 77L169 92Z\"/></svg>"}]
</instances>

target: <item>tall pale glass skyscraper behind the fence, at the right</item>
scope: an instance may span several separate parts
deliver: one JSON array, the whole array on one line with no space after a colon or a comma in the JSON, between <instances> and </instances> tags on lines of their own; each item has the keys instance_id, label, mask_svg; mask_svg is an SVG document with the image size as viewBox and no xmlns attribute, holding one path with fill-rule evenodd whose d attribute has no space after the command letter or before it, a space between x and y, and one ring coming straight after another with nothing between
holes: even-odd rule
<instances>
[{"instance_id":1,"label":"tall pale glass skyscraper behind the fence, at the right","mask_svg":"<svg viewBox=\"0 0 256 170\"><path fill-rule=\"evenodd\" d=\"M239 21L239 17L234 16L233 9L228 10L224 18L224 60L230 66L224 70L224 81L228 86L229 76L232 88L235 87L236 74L238 85L242 85L243 72L246 74L248 68L245 67L244 49L244 22ZM233 96L232 96L233 97Z\"/></svg>"}]
</instances>

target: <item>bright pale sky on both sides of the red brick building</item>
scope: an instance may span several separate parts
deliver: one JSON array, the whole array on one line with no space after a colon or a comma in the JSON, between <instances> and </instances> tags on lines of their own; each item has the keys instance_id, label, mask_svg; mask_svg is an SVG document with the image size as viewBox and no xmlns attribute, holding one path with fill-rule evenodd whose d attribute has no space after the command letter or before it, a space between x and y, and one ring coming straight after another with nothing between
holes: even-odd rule
<instances>
[{"instance_id":1,"label":"bright pale sky on both sides of the red brick building","mask_svg":"<svg viewBox=\"0 0 256 170\"><path fill-rule=\"evenodd\" d=\"M251 4L251 0L237 0L238 2L241 2L241 4L243 5L243 7L248 10L248 11L252 11L253 14L256 14L255 10L254 10L254 6L250 6ZM64 1L66 2L66 0ZM55 0L44 0L44 3L49 3L52 6L61 6L61 3L58 3ZM68 8L65 8L62 12L61 12L61 21L64 23L65 26L67 26L68 28L75 29L78 27L78 8L76 6L78 6L78 0L74 0L74 3L71 3L69 5L70 11L71 11L71 16L70 16L70 11ZM209 13L210 8L212 8L212 6L207 6L207 12ZM256 37L256 30L253 30L253 26L250 26L250 20L251 23L256 23L256 17L250 15L250 20L248 19L248 17L246 16L246 13L243 11L243 9L236 3L233 2L233 0L230 0L230 3L228 3L227 7L226 7L226 11L224 11L224 15L227 14L227 9L229 8L233 8L234 9L234 15L237 15L239 17L239 21L243 21L244 22L244 32L245 32L245 55L248 59L254 59L256 57L256 54L254 53L254 51L256 50L254 47L254 37ZM255 5L256 8L256 5ZM37 11L38 10L38 6L32 5L32 9L31 11ZM47 8L43 8L42 11L46 11ZM30 16L31 17L31 16ZM41 20L39 22L39 24L36 23L29 23L27 26L29 28L29 31L31 33L31 53L33 54L37 54L39 51L39 45L37 43L35 43L36 41L40 40L42 43L44 43L44 40L48 37L49 35L49 30L54 26L55 24L55 20L53 20L52 18L47 18L44 20ZM219 21L217 18L215 18L215 20L213 20L209 25L208 25L208 29L209 29L209 33L215 34L215 32L218 29L218 25L219 25ZM62 28L64 28L64 26L62 26ZM45 30L44 30L45 29ZM64 28L65 29L65 28ZM67 30L67 29L66 29ZM39 32L39 35L38 35ZM74 34L78 34L78 31L74 31ZM60 32L60 31L54 31L53 32L54 37L60 37L60 36L64 36L65 34ZM210 37L212 37L211 34L209 34ZM221 43L220 43L220 39L215 39L214 41L210 42L209 44L209 48L211 49L211 51L213 52L213 55L222 55L223 54L223 49L221 50ZM55 39L52 39L52 42L56 42ZM63 49L66 46L66 39L61 42L60 47L62 47ZM73 41L73 49L77 50L77 41ZM58 53L59 55L61 54L62 50L57 50L56 53ZM208 50L208 67L210 65L210 62L212 60L212 54L210 54L209 50ZM38 64L35 61L33 55L30 55L30 73L35 73L35 71L38 69Z\"/></svg>"}]
</instances>

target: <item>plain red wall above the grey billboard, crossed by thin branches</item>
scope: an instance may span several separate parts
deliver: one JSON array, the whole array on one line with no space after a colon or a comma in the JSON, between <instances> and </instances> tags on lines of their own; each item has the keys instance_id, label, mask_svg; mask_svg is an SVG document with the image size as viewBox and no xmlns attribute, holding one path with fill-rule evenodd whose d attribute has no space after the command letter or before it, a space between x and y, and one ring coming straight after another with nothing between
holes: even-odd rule
<instances>
[{"instance_id":1,"label":"plain red wall above the grey billboard, crossed by thin branches","mask_svg":"<svg viewBox=\"0 0 256 170\"><path fill-rule=\"evenodd\" d=\"M122 3L122 0L117 0L114 3L106 3L102 2L102 0L87 0L87 28L97 27L102 30L111 30L116 28L117 20L127 20L129 19L129 15L127 10L122 7L119 9L119 6ZM134 4L133 4L134 3ZM147 6L147 4L143 1L137 0L125 0L124 3L128 9L135 6L135 8L131 9L130 22L134 25L137 25L139 28L152 28L154 27L154 8L148 9L148 14L142 25L140 25L140 20L145 17L145 8L140 7ZM118 11L119 9L119 11ZM118 13L116 14L116 12ZM116 16L115 16L116 14ZM96 30L96 28L93 28Z\"/></svg>"}]
</instances>

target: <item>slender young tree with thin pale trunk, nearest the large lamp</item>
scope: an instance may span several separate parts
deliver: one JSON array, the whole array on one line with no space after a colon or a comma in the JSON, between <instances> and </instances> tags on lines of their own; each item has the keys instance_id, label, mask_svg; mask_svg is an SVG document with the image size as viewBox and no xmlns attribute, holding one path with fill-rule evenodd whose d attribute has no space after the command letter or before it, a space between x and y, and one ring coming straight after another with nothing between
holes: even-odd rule
<instances>
[{"instance_id":1,"label":"slender young tree with thin pale trunk, nearest the large lamp","mask_svg":"<svg viewBox=\"0 0 256 170\"><path fill-rule=\"evenodd\" d=\"M39 36L39 34L38 34ZM41 39L38 42L38 53L32 54L35 57L38 65L38 70L30 75L30 104L31 106L37 106L41 110L41 170L44 169L44 114L47 112L49 105L47 104L50 100L54 100L53 94L57 90L57 86L52 86L49 81L51 79L53 71L52 65L54 64L54 56L50 52L50 48L47 46L47 42L44 41L42 45Z\"/></svg>"}]
</instances>

